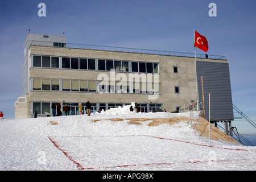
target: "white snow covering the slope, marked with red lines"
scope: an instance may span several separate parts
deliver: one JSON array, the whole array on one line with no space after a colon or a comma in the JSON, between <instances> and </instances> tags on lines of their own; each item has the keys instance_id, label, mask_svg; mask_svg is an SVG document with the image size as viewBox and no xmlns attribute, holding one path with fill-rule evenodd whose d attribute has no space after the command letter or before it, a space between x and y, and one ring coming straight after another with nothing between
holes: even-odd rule
<instances>
[{"instance_id":1,"label":"white snow covering the slope, marked with red lines","mask_svg":"<svg viewBox=\"0 0 256 182\"><path fill-rule=\"evenodd\" d=\"M209 146L209 139L193 129L189 112L135 113L129 107L90 116L3 119L0 170L256 169L256 147L220 139L210 140ZM131 118L139 125L131 124ZM148 126L154 118L187 119Z\"/></svg>"}]
</instances>

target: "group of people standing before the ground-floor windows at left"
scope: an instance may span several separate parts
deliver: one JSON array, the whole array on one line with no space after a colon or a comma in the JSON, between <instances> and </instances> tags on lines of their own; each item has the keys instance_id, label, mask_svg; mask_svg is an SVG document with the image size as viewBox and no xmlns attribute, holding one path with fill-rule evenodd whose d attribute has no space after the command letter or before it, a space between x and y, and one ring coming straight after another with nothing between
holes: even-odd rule
<instances>
[{"instance_id":1,"label":"group of people standing before the ground-floor windows at left","mask_svg":"<svg viewBox=\"0 0 256 182\"><path fill-rule=\"evenodd\" d=\"M84 111L82 109L82 103L77 107L79 107L80 113L84 114ZM86 102L86 112L87 112L88 116L90 115L90 107L91 107L90 102L89 102L89 100L87 100L87 102ZM60 103L58 103L57 106L56 106L55 103L53 103L51 108L52 108L53 117L62 115ZM56 114L56 108L57 108L57 114ZM63 111L65 111L65 115L68 115L68 110L69 110L68 106L67 106L67 104L65 104L64 109L63 109Z\"/></svg>"}]
</instances>

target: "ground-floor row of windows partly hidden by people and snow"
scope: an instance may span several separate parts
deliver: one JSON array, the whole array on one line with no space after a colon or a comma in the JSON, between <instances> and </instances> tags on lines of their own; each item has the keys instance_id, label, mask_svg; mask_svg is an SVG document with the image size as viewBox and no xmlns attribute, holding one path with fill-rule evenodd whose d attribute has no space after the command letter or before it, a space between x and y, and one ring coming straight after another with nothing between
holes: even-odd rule
<instances>
[{"instance_id":1,"label":"ground-floor row of windows partly hidden by people and snow","mask_svg":"<svg viewBox=\"0 0 256 182\"><path fill-rule=\"evenodd\" d=\"M51 110L51 105L53 104L53 102L32 102L32 110L33 112L36 111L37 114L43 114L43 115L51 115L52 114L52 110ZM64 106L67 104L68 107L68 111L67 111L67 115L79 115L79 105L80 103L65 103L62 102L60 103L61 105L61 109L62 109L62 114L65 115L65 111L64 111ZM90 104L91 107L91 113L96 113L98 111L106 111L110 108L115 108L115 107L123 107L126 105L130 105L129 103L125 103L125 104L120 104L120 103L91 103ZM84 111L84 114L86 114L86 104L82 103L82 111ZM145 112L147 113L148 111L155 111L155 110L159 110L162 109L162 104L138 104L139 107L139 111Z\"/></svg>"}]
</instances>

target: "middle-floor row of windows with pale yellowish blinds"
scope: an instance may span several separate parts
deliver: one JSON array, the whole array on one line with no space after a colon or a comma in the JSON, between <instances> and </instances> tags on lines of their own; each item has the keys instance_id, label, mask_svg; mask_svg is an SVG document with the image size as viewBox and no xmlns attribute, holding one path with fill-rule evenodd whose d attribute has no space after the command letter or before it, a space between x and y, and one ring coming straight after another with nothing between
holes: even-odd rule
<instances>
[{"instance_id":1,"label":"middle-floor row of windows with pale yellowish blinds","mask_svg":"<svg viewBox=\"0 0 256 182\"><path fill-rule=\"evenodd\" d=\"M32 90L98 93L161 93L160 83L154 82L56 80L47 78L32 78Z\"/></svg>"}]
</instances>

